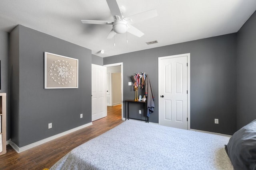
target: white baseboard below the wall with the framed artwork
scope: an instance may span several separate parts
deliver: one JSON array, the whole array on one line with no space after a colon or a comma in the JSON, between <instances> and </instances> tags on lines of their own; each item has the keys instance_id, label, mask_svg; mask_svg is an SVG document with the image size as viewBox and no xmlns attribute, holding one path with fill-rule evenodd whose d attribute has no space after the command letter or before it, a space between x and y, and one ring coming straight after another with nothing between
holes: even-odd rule
<instances>
[{"instance_id":1,"label":"white baseboard below the wall with the framed artwork","mask_svg":"<svg viewBox=\"0 0 256 170\"><path fill-rule=\"evenodd\" d=\"M11 146L16 152L20 153L20 152L23 152L23 151L25 151L25 150L31 149L31 148L33 148L33 147L36 147L36 146L38 146L38 145L42 145L42 144L44 144L44 143L46 143L46 142L52 141L52 140L54 140L54 139L57 139L58 137L62 137L62 136L64 136L64 135L67 135L68 133L72 133L72 132L77 131L77 130L80 130L80 129L84 128L84 127L88 127L88 126L90 126L90 125L92 125L92 122L87 123L87 124L82 125L82 126L79 126L79 127L76 127L76 128L74 128L74 129L70 129L70 130L68 130L68 131L59 133L59 134L57 134L57 135L48 137L48 138L46 138L46 139L42 139L41 141L37 141L37 142L35 142L35 143L26 145L26 146L24 146L24 147L18 147L14 142L12 142L11 139L9 140L9 144L10 144L10 146Z\"/></svg>"}]
</instances>

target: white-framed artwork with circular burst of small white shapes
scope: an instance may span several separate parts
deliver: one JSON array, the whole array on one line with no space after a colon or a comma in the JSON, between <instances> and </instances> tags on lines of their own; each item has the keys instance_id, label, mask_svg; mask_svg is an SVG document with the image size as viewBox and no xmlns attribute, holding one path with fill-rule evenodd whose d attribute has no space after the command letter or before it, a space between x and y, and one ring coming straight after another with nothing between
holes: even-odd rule
<instances>
[{"instance_id":1,"label":"white-framed artwork with circular burst of small white shapes","mask_svg":"<svg viewBox=\"0 0 256 170\"><path fill-rule=\"evenodd\" d=\"M44 52L44 88L78 88L78 59Z\"/></svg>"}]
</instances>

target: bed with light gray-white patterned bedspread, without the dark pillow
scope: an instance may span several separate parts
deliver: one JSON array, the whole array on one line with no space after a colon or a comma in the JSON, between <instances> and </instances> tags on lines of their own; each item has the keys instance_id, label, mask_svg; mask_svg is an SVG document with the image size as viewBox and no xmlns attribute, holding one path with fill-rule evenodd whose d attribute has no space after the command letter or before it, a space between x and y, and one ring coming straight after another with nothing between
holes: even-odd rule
<instances>
[{"instance_id":1,"label":"bed with light gray-white patterned bedspread, without the dark pillow","mask_svg":"<svg viewBox=\"0 0 256 170\"><path fill-rule=\"evenodd\" d=\"M230 137L127 120L76 147L50 170L233 170Z\"/></svg>"}]
</instances>

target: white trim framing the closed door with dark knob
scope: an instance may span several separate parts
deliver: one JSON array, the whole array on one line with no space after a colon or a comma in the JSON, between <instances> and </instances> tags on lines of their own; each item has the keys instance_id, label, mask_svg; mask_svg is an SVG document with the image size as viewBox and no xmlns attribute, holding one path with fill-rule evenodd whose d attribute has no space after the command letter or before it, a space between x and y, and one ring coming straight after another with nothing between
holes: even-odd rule
<instances>
[{"instance_id":1,"label":"white trim framing the closed door with dark knob","mask_svg":"<svg viewBox=\"0 0 256 170\"><path fill-rule=\"evenodd\" d=\"M175 58L175 57L184 57L187 56L188 58L188 130L190 130L190 53L186 54L179 54L179 55L171 55L165 57L158 57L158 94L160 95L160 59L168 59L168 58ZM160 100L158 100L158 106L160 106ZM160 124L160 107L158 107L158 124Z\"/></svg>"}]
</instances>

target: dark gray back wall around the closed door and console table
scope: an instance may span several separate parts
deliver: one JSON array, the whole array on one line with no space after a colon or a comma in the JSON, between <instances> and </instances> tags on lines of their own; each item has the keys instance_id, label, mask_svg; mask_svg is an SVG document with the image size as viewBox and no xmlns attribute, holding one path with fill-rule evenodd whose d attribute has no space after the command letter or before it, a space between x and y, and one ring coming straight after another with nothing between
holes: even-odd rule
<instances>
[{"instance_id":1,"label":"dark gray back wall around the closed door and console table","mask_svg":"<svg viewBox=\"0 0 256 170\"><path fill-rule=\"evenodd\" d=\"M134 99L130 76L146 72L155 100L150 122L158 123L158 57L190 53L191 128L223 134L236 131L236 33L105 57L104 64L123 62L124 100ZM143 95L144 91L139 90ZM132 106L131 106L132 107ZM134 106L133 117L140 118ZM142 110L143 111L143 110ZM214 118L219 124L214 124Z\"/></svg>"}]
</instances>

